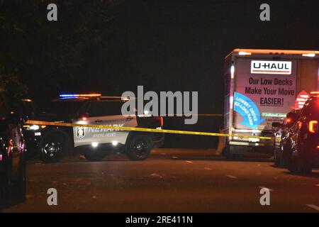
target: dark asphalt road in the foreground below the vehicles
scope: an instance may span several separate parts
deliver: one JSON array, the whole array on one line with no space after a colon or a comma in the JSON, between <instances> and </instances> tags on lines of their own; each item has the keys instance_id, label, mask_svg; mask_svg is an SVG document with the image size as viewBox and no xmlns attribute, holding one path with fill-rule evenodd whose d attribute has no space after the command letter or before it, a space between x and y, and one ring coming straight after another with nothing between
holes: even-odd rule
<instances>
[{"instance_id":1,"label":"dark asphalt road in the foreground below the vehicles","mask_svg":"<svg viewBox=\"0 0 319 227\"><path fill-rule=\"evenodd\" d=\"M301 176L270 160L226 161L213 150L157 149L142 162L65 157L27 167L27 201L5 212L318 212L319 171ZM270 205L259 203L270 190ZM47 189L57 189L57 206Z\"/></svg>"}]
</instances>

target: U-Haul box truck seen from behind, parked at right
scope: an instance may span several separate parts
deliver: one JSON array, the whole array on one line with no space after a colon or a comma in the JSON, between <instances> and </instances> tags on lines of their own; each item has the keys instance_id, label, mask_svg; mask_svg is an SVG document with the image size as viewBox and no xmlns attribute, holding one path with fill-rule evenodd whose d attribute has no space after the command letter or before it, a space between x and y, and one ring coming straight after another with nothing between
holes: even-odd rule
<instances>
[{"instance_id":1,"label":"U-Haul box truck seen from behind, parked at right","mask_svg":"<svg viewBox=\"0 0 319 227\"><path fill-rule=\"evenodd\" d=\"M230 52L224 70L224 133L273 137L272 122L284 121L289 111L301 108L308 94L318 90L318 60L315 50ZM273 145L274 140L230 136L225 153L272 150Z\"/></svg>"}]
</instances>

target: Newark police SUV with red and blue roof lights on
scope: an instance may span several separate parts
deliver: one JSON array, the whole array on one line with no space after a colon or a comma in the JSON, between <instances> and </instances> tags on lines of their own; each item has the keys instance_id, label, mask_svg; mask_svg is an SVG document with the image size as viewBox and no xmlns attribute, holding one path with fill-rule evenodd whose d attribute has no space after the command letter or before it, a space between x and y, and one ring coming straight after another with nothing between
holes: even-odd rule
<instances>
[{"instance_id":1,"label":"Newark police SUV with red and blue roof lights on","mask_svg":"<svg viewBox=\"0 0 319 227\"><path fill-rule=\"evenodd\" d=\"M162 128L162 117L149 115L123 116L121 107L127 99L101 94L61 94L50 102L38 120L89 125ZM32 132L40 159L56 162L67 153L83 154L87 160L97 161L109 153L126 153L130 160L145 160L153 148L164 143L164 133L119 131L108 128L82 126L37 126ZM29 134L30 136L30 134Z\"/></svg>"}]
</instances>

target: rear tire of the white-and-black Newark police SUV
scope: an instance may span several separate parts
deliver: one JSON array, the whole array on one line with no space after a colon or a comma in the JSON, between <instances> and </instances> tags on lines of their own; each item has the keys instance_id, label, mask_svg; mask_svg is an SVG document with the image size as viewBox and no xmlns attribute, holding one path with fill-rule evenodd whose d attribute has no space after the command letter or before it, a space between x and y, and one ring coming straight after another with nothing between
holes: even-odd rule
<instances>
[{"instance_id":1,"label":"rear tire of the white-and-black Newark police SUV","mask_svg":"<svg viewBox=\"0 0 319 227\"><path fill-rule=\"evenodd\" d=\"M141 153L139 153L137 146L142 145ZM133 161L142 161L150 156L152 150L152 140L149 135L135 134L130 136L128 144L126 145L126 155Z\"/></svg>"}]
</instances>

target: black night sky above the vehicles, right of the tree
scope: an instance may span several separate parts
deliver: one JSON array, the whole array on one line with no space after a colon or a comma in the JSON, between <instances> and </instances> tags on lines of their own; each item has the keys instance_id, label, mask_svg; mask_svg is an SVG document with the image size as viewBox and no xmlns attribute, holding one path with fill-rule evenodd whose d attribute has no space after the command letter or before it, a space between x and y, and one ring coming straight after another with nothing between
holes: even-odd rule
<instances>
[{"instance_id":1,"label":"black night sky above the vehicles, right of the tree","mask_svg":"<svg viewBox=\"0 0 319 227\"><path fill-rule=\"evenodd\" d=\"M39 3L44 17L49 2ZM43 22L52 29L68 20L71 26L74 11L89 11L82 4L70 11L67 4L52 2L58 6L58 22ZM259 20L262 3L270 5L271 21ZM200 113L222 113L225 55L235 48L319 50L318 6L318 1L124 1L111 35L82 52L83 61L70 72L72 80L41 90L39 79L31 82L23 73L21 79L35 99L39 91L121 95L138 85L145 91L198 91ZM23 14L17 7L12 18Z\"/></svg>"}]
</instances>

